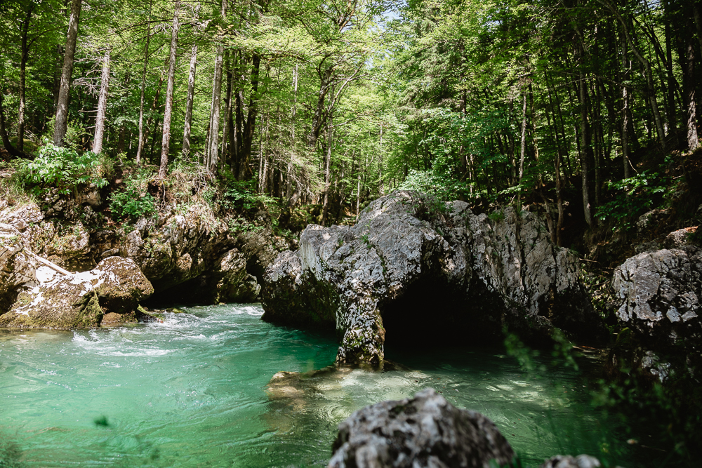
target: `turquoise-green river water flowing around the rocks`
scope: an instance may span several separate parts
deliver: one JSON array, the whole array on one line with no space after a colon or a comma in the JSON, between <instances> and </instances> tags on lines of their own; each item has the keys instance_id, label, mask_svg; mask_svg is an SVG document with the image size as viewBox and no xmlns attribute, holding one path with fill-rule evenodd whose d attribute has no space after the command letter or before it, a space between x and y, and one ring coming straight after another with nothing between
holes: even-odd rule
<instances>
[{"instance_id":1,"label":"turquoise-green river water flowing around the rocks","mask_svg":"<svg viewBox=\"0 0 702 468\"><path fill-rule=\"evenodd\" d=\"M574 371L530 378L495 349L386 349L402 366L313 373L333 362L333 336L260 321L259 305L187 310L119 328L0 330L0 438L29 467L324 466L354 410L433 387L494 420L527 466L625 456ZM281 370L307 374L268 387Z\"/></svg>"}]
</instances>

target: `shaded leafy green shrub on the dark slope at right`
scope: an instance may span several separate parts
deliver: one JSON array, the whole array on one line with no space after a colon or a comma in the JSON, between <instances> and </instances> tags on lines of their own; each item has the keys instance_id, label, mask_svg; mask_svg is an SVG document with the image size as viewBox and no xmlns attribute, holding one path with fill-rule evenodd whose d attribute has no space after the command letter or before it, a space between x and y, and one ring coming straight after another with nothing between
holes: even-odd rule
<instances>
[{"instance_id":1,"label":"shaded leafy green shrub on the dark slope at right","mask_svg":"<svg viewBox=\"0 0 702 468\"><path fill-rule=\"evenodd\" d=\"M614 197L600 206L597 218L614 222L614 229L630 229L640 215L650 210L657 199L661 199L668 182L669 178L649 171L609 182L608 188L614 191Z\"/></svg>"}]
</instances>

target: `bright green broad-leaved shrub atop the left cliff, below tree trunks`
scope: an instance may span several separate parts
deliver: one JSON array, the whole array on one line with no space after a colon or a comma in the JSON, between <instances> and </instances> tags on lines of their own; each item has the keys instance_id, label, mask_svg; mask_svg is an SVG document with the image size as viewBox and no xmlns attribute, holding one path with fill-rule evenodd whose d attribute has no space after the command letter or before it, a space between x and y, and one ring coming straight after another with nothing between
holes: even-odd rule
<instances>
[{"instance_id":1,"label":"bright green broad-leaved shrub atop the left cliff, below tree trunks","mask_svg":"<svg viewBox=\"0 0 702 468\"><path fill-rule=\"evenodd\" d=\"M79 185L105 187L105 169L110 171L112 166L98 154L79 154L73 149L55 146L47 138L34 160L20 159L16 168L18 182L41 196L53 188L60 194L69 194Z\"/></svg>"}]
</instances>

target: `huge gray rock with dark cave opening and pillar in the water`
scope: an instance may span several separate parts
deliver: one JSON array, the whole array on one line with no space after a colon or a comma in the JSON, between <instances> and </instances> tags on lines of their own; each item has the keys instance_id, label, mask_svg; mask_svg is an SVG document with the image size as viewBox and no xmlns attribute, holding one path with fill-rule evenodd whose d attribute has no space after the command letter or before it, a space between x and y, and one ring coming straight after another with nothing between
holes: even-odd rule
<instances>
[{"instance_id":1,"label":"huge gray rock with dark cave opening and pillar in the water","mask_svg":"<svg viewBox=\"0 0 702 468\"><path fill-rule=\"evenodd\" d=\"M602 333L578 259L535 215L475 215L416 192L373 201L352 227L310 225L268 267L263 319L336 327L338 363L383 361L386 333L499 340Z\"/></svg>"}]
</instances>

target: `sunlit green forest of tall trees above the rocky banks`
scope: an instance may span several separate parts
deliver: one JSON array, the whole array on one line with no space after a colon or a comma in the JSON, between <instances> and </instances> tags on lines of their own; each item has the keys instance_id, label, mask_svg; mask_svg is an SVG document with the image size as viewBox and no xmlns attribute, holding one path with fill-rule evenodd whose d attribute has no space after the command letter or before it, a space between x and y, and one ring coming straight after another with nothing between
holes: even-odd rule
<instances>
[{"instance_id":1,"label":"sunlit green forest of tall trees above the rocky banks","mask_svg":"<svg viewBox=\"0 0 702 468\"><path fill-rule=\"evenodd\" d=\"M569 216L625 227L699 145L691 0L1 5L3 157L35 175L44 145L178 166L322 225L397 188L530 200L569 245Z\"/></svg>"}]
</instances>

